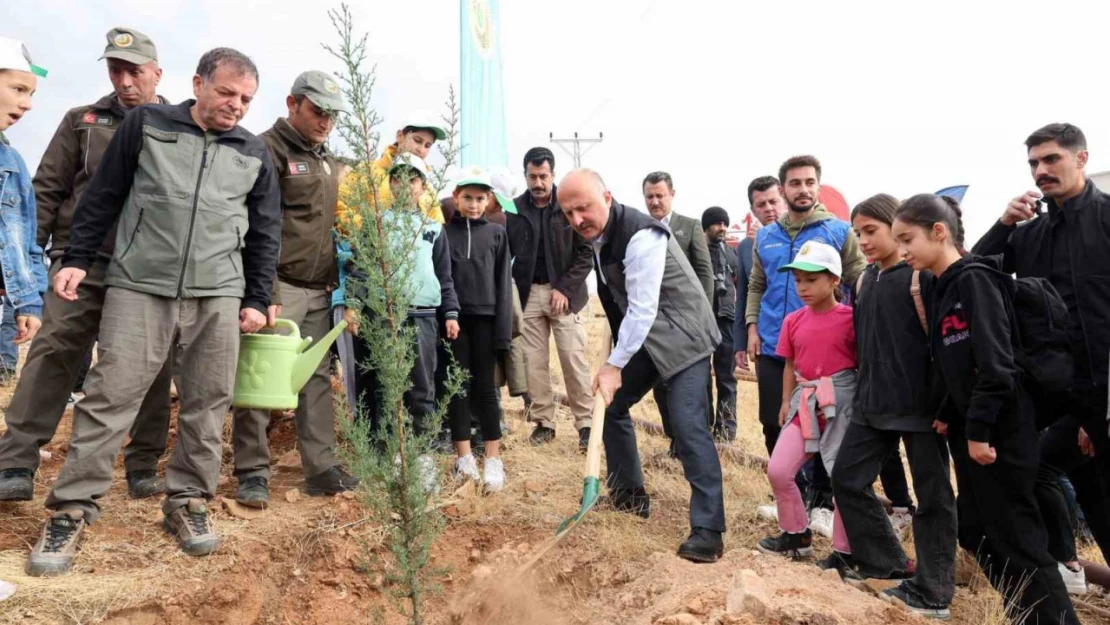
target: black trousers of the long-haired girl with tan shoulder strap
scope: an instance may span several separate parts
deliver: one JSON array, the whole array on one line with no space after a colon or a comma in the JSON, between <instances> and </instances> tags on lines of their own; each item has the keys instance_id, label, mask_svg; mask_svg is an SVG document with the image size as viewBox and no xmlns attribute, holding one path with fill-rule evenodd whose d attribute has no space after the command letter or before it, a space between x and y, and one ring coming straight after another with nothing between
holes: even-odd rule
<instances>
[{"instance_id":1,"label":"black trousers of the long-haired girl with tan shoulder strap","mask_svg":"<svg viewBox=\"0 0 1110 625\"><path fill-rule=\"evenodd\" d=\"M914 513L917 574L906 582L930 605L948 605L956 592L956 496L949 480L948 443L935 432L876 430L851 423L833 467L833 492L851 556L872 577L905 569L906 553L872 484L906 442L920 506ZM901 474L901 473L900 473ZM902 474L902 483L905 484Z\"/></svg>"}]
</instances>

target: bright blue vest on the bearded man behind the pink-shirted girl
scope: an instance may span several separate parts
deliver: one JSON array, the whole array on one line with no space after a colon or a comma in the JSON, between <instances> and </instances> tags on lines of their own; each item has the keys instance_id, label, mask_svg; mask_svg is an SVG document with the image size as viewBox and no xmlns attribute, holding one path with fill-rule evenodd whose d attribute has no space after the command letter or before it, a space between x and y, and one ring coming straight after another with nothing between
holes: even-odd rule
<instances>
[{"instance_id":1,"label":"bright blue vest on the bearded man behind the pink-shirted girl","mask_svg":"<svg viewBox=\"0 0 1110 625\"><path fill-rule=\"evenodd\" d=\"M803 306L801 300L794 289L794 276L790 272L779 272L779 268L793 262L795 254L807 241L827 243L840 250L841 254L844 253L848 231L851 228L848 222L840 221L824 210L809 219L813 221L807 221L794 239L790 239L790 234L783 226L785 216L779 222L763 228L756 233L755 253L759 256L759 264L767 281L757 322L764 355L778 357L776 355L778 335L783 331L783 321L786 315ZM862 258L859 259L858 264L860 266L850 266L849 263L844 263L845 284L851 284L851 281L859 275L864 265Z\"/></svg>"}]
</instances>

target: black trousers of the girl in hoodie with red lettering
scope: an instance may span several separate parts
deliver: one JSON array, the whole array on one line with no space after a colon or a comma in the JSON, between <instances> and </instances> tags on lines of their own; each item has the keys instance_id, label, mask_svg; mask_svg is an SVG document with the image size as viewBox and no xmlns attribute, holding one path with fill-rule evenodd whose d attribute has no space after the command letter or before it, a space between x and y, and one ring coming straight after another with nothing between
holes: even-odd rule
<instances>
[{"instance_id":1,"label":"black trousers of the girl in hoodie with red lettering","mask_svg":"<svg viewBox=\"0 0 1110 625\"><path fill-rule=\"evenodd\" d=\"M1019 401L1027 402L1026 397ZM1022 409L1028 410L1022 410ZM1039 460L1032 407L1002 413L992 432L998 454L989 465L968 455L963 423L952 423L948 443L956 466L961 547L976 556L995 589L1026 625L1078 625L1079 618L1048 552L1033 484Z\"/></svg>"}]
</instances>

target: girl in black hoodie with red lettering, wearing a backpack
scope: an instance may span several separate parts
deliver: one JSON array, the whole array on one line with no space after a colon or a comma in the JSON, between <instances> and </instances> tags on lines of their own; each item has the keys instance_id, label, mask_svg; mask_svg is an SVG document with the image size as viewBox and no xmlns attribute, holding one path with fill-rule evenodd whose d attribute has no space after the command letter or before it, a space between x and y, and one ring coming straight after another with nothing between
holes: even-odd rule
<instances>
[{"instance_id":1,"label":"girl in black hoodie with red lettering, wearing a backpack","mask_svg":"<svg viewBox=\"0 0 1110 625\"><path fill-rule=\"evenodd\" d=\"M1015 362L1017 284L999 271L998 258L961 256L962 232L959 209L932 194L906 200L895 215L906 261L937 276L929 346L945 392L938 417L947 422L956 466L959 544L976 556L1013 622L1076 625L1033 497L1037 431Z\"/></svg>"}]
</instances>

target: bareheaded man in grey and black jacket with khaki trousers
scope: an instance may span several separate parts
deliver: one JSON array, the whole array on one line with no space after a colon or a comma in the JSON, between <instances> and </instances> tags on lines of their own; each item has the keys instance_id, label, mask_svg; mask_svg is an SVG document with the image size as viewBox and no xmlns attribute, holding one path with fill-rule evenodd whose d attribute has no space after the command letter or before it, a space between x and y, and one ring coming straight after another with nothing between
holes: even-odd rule
<instances>
[{"instance_id":1,"label":"bareheaded man in grey and black jacket with khaki trousers","mask_svg":"<svg viewBox=\"0 0 1110 625\"><path fill-rule=\"evenodd\" d=\"M181 412L165 466L163 527L189 555L220 536L208 514L220 477L240 333L266 324L281 245L281 196L261 139L239 127L259 89L245 54L201 57L195 100L144 104L123 120L78 204L54 294L80 301L112 223L100 361L73 411L65 465L27 563L29 575L73 565L87 524L100 516L112 461L143 395L173 359Z\"/></svg>"}]
</instances>

